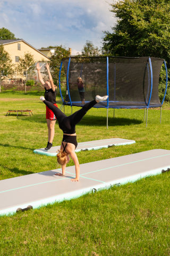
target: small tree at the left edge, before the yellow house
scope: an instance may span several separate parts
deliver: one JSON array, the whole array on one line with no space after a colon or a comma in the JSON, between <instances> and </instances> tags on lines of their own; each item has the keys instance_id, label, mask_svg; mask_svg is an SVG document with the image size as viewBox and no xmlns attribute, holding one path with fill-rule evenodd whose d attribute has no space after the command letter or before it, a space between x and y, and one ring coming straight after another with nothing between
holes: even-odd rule
<instances>
[{"instance_id":1,"label":"small tree at the left edge, before the yellow house","mask_svg":"<svg viewBox=\"0 0 170 256\"><path fill-rule=\"evenodd\" d=\"M0 45L0 92L1 78L4 76L10 77L14 73L11 62L10 55L4 50L4 46Z\"/></svg>"}]
</instances>

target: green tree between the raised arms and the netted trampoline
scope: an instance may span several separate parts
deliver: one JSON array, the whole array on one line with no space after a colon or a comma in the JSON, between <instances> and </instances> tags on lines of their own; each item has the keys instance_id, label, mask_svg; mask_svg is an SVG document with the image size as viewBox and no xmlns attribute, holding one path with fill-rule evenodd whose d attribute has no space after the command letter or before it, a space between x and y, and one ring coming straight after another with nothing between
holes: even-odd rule
<instances>
[{"instance_id":1,"label":"green tree between the raised arms and the netted trampoline","mask_svg":"<svg viewBox=\"0 0 170 256\"><path fill-rule=\"evenodd\" d=\"M57 85L57 82L58 82L61 61L62 61L63 58L66 58L66 57L69 57L69 50L66 50L65 47L63 47L62 45L55 46L55 52L52 55L52 57L50 57L50 68L52 70L51 74L52 74L54 83L56 85ZM64 71L64 68L62 68L61 81L64 78L65 78L65 71Z\"/></svg>"}]
</instances>

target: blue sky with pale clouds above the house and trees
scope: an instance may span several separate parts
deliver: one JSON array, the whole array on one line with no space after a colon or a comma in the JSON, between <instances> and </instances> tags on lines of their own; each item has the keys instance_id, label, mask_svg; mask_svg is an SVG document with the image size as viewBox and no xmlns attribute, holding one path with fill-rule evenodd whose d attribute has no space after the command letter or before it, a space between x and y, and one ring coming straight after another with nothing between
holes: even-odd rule
<instances>
[{"instance_id":1,"label":"blue sky with pale clouds above the house and trees","mask_svg":"<svg viewBox=\"0 0 170 256\"><path fill-rule=\"evenodd\" d=\"M49 45L81 52L86 41L102 46L116 19L113 0L0 0L0 28L40 49Z\"/></svg>"}]
</instances>

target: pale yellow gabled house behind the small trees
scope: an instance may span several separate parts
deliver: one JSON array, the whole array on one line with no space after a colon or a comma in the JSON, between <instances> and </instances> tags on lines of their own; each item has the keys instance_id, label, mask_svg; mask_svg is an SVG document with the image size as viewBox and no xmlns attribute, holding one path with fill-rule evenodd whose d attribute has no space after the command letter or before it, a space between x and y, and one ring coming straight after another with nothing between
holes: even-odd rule
<instances>
[{"instance_id":1,"label":"pale yellow gabled house behind the small trees","mask_svg":"<svg viewBox=\"0 0 170 256\"><path fill-rule=\"evenodd\" d=\"M0 40L0 45L4 46L4 50L10 55L12 64L14 65L18 65L20 58L23 58L25 53L32 54L35 62L50 61L44 53L25 42L23 39ZM16 78L21 76L15 74L14 77Z\"/></svg>"}]
</instances>

